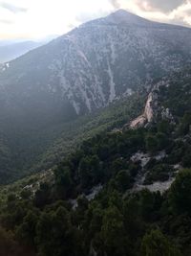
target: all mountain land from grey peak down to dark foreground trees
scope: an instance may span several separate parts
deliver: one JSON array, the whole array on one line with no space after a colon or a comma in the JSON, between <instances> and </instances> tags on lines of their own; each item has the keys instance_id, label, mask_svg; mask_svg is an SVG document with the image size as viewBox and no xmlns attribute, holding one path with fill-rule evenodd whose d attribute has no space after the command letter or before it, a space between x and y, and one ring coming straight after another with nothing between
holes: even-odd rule
<instances>
[{"instance_id":1,"label":"all mountain land from grey peak down to dark foreground trees","mask_svg":"<svg viewBox=\"0 0 191 256\"><path fill-rule=\"evenodd\" d=\"M191 255L189 37L118 11L1 66L0 255Z\"/></svg>"}]
</instances>

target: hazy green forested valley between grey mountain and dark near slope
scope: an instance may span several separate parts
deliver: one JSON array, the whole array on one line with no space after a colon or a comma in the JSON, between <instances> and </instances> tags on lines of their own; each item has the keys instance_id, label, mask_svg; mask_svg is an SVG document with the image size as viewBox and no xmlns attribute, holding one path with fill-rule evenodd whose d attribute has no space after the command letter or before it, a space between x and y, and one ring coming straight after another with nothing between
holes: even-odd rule
<instances>
[{"instance_id":1,"label":"hazy green forested valley between grey mountain and dark near slope","mask_svg":"<svg viewBox=\"0 0 191 256\"><path fill-rule=\"evenodd\" d=\"M49 126L42 125L43 119L40 125L35 120L22 120L20 125L17 120L0 120L0 184L53 168L84 139L121 127L138 115L145 96L140 91L94 113Z\"/></svg>"}]
</instances>

